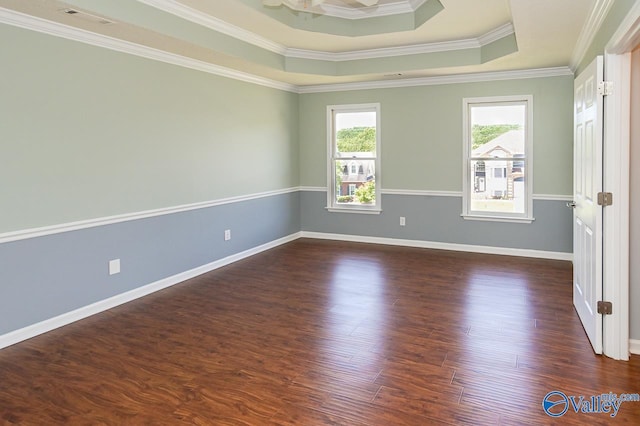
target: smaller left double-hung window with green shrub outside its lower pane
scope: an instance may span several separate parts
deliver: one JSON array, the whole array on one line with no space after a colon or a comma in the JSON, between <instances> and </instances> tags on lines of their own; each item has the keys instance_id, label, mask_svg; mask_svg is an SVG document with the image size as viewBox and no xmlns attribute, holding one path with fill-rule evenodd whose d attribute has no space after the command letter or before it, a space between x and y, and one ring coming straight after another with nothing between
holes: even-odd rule
<instances>
[{"instance_id":1,"label":"smaller left double-hung window with green shrub outside its lower pane","mask_svg":"<svg viewBox=\"0 0 640 426\"><path fill-rule=\"evenodd\" d=\"M380 104L327 107L329 211L380 213Z\"/></svg>"}]
</instances>

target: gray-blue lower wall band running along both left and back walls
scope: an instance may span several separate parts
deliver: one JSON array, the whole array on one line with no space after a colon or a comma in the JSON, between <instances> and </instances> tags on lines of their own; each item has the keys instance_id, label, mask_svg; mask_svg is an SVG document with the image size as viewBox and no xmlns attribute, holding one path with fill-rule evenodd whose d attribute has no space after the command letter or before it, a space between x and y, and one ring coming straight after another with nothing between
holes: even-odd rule
<instances>
[{"instance_id":1,"label":"gray-blue lower wall band running along both left and back walls","mask_svg":"<svg viewBox=\"0 0 640 426\"><path fill-rule=\"evenodd\" d=\"M380 215L329 213L295 191L0 244L0 336L302 231L571 253L564 201L531 224L467 221L460 197L384 194ZM399 226L399 217L406 226ZM224 241L224 230L232 238ZM122 271L108 274L108 262Z\"/></svg>"}]
</instances>

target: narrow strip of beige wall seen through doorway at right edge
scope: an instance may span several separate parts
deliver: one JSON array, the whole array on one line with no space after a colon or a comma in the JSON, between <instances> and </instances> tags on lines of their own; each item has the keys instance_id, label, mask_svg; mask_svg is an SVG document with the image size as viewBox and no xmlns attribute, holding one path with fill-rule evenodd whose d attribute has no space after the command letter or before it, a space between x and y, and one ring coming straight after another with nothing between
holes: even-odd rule
<instances>
[{"instance_id":1,"label":"narrow strip of beige wall seen through doorway at right edge","mask_svg":"<svg viewBox=\"0 0 640 426\"><path fill-rule=\"evenodd\" d=\"M631 56L629 199L630 337L640 340L640 47Z\"/></svg>"}]
</instances>

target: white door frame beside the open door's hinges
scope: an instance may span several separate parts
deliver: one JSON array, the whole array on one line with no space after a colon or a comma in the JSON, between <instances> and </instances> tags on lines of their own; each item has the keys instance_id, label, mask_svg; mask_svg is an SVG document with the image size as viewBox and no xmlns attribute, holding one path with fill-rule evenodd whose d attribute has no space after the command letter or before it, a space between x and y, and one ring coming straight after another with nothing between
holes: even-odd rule
<instances>
[{"instance_id":1,"label":"white door frame beside the open door's hinges","mask_svg":"<svg viewBox=\"0 0 640 426\"><path fill-rule=\"evenodd\" d=\"M629 359L629 124L631 119L631 51L640 42L640 2L622 21L605 48L605 80L613 93L605 97L604 191L613 205L604 208L603 298L613 303L604 316L604 354Z\"/></svg>"}]
</instances>

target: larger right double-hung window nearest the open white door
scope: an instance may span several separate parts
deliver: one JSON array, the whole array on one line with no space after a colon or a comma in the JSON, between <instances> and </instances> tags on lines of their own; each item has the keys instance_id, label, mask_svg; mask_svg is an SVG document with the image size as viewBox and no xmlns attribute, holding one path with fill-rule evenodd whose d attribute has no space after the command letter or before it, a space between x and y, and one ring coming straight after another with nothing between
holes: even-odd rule
<instances>
[{"instance_id":1,"label":"larger right double-hung window nearest the open white door","mask_svg":"<svg viewBox=\"0 0 640 426\"><path fill-rule=\"evenodd\" d=\"M531 222L533 97L466 98L465 219Z\"/></svg>"}]
</instances>

